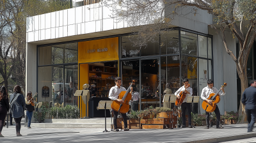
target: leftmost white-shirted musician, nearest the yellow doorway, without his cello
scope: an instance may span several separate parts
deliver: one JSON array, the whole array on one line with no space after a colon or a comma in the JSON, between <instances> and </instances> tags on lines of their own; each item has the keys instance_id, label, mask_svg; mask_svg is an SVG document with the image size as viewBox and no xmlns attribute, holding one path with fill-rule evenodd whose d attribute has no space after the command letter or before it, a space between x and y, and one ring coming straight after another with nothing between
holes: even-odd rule
<instances>
[{"instance_id":1,"label":"leftmost white-shirted musician, nearest the yellow doorway, without his cello","mask_svg":"<svg viewBox=\"0 0 256 143\"><path fill-rule=\"evenodd\" d=\"M126 91L125 87L121 86L122 85L122 80L121 80L120 77L115 78L115 84L116 84L116 86L111 87L111 89L109 90L108 98L110 98L111 100L116 100L117 102L120 102L120 103L124 103L124 101L122 99L121 100L118 99L118 95L122 91ZM131 87L130 93L132 93L132 87ZM117 123L116 123L118 112L115 111L115 110L113 110L113 112L114 112L114 119L113 119L114 132L118 132L119 130L117 128ZM127 116L126 116L126 114L122 114L122 117L124 119L124 131L129 131L129 128L127 128Z\"/></svg>"}]
</instances>

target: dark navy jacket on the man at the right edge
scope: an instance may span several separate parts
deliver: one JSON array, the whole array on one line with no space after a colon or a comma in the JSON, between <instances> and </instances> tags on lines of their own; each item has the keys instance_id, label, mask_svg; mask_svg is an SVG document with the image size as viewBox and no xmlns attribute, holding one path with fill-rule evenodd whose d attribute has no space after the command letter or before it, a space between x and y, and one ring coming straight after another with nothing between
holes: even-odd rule
<instances>
[{"instance_id":1,"label":"dark navy jacket on the man at the right edge","mask_svg":"<svg viewBox=\"0 0 256 143\"><path fill-rule=\"evenodd\" d=\"M241 102L245 105L245 109L256 109L256 87L246 88Z\"/></svg>"}]
</instances>

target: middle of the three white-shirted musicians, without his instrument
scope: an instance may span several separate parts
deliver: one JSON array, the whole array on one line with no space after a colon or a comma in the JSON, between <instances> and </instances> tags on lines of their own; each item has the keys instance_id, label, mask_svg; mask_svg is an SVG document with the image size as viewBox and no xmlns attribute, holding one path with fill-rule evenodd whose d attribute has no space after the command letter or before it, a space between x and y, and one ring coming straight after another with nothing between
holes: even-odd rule
<instances>
[{"instance_id":1,"label":"middle of the three white-shirted musicians, without his instrument","mask_svg":"<svg viewBox=\"0 0 256 143\"><path fill-rule=\"evenodd\" d=\"M179 99L180 98L180 92L184 91L186 93L186 98L183 100L181 105L181 111L182 111L182 128L186 128L186 109L188 112L188 128L193 128L191 125L191 103L187 103L188 96L192 96L192 88L188 87L188 79L183 80L184 86L180 87L174 94ZM186 87L188 87L186 89Z\"/></svg>"}]
</instances>

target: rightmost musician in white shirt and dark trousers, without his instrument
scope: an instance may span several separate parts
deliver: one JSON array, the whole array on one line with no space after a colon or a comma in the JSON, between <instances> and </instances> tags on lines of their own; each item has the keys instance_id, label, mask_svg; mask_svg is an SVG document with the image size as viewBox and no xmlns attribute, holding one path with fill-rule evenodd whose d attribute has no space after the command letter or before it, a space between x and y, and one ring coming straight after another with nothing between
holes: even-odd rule
<instances>
[{"instance_id":1,"label":"rightmost musician in white shirt and dark trousers, without his instrument","mask_svg":"<svg viewBox=\"0 0 256 143\"><path fill-rule=\"evenodd\" d=\"M225 95L225 91L224 89L221 87L222 93L220 92L220 96ZM218 93L218 89L216 89L216 87L213 87L213 80L209 79L207 80L207 86L204 87L204 89L202 89L202 93L201 93L201 98L202 100L205 100L207 103L209 103L210 105L212 104L212 100L208 100L207 98L209 98L209 95L211 93ZM216 105L216 109L214 110L214 113L216 114L216 128L223 128L222 126L220 126L220 110L218 108L218 105ZM207 125L207 129L209 129L209 112L205 111L205 115L206 115L206 125Z\"/></svg>"}]
</instances>

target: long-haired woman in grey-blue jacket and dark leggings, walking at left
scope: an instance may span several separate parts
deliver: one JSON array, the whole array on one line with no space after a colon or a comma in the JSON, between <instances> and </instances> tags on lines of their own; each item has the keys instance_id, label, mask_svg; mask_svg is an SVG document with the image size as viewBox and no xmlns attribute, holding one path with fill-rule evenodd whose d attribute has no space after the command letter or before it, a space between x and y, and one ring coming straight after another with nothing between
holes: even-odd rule
<instances>
[{"instance_id":1,"label":"long-haired woman in grey-blue jacket and dark leggings, walking at left","mask_svg":"<svg viewBox=\"0 0 256 143\"><path fill-rule=\"evenodd\" d=\"M26 103L19 85L14 87L13 92L10 96L10 112L12 112L12 117L16 123L16 134L19 137L22 136L20 134L20 121L24 115Z\"/></svg>"}]
</instances>

